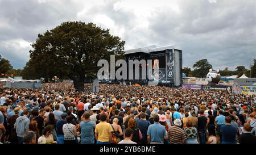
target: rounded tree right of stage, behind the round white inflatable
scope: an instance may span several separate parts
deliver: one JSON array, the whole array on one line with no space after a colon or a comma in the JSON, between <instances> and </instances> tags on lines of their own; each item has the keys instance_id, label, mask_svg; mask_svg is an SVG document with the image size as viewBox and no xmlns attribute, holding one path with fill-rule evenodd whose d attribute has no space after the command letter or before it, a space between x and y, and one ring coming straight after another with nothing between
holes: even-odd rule
<instances>
[{"instance_id":1,"label":"rounded tree right of stage, behind the round white inflatable","mask_svg":"<svg viewBox=\"0 0 256 155\"><path fill-rule=\"evenodd\" d=\"M209 64L207 59L199 60L196 62L196 64L193 65L193 76L200 78L206 77L209 69L211 68L212 65Z\"/></svg>"}]
</instances>

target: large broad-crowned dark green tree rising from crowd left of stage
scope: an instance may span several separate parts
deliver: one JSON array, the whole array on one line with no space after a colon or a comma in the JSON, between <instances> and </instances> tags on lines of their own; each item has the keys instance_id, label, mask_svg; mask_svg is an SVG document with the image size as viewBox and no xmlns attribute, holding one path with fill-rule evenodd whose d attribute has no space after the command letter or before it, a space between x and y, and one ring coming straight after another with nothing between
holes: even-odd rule
<instances>
[{"instance_id":1,"label":"large broad-crowned dark green tree rising from crowd left of stage","mask_svg":"<svg viewBox=\"0 0 256 155\"><path fill-rule=\"evenodd\" d=\"M124 45L118 36L93 23L64 22L38 35L23 75L68 77L76 90L83 91L85 77L96 77L98 60L110 60L110 55L122 57Z\"/></svg>"}]
</instances>

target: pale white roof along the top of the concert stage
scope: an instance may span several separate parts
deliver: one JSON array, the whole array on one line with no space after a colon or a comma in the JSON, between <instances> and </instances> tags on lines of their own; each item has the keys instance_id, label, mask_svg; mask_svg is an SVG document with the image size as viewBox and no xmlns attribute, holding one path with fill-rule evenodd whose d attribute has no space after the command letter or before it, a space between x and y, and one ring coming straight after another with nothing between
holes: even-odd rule
<instances>
[{"instance_id":1,"label":"pale white roof along the top of the concert stage","mask_svg":"<svg viewBox=\"0 0 256 155\"><path fill-rule=\"evenodd\" d=\"M164 51L166 49L174 49L174 45L166 45L162 47L156 47L155 45L147 46L147 47L141 47L141 48L135 48L135 49L130 49L125 51L125 55L129 55L132 53L138 53L138 52L143 52L143 53L150 53L150 52L156 52L156 51Z\"/></svg>"}]
</instances>

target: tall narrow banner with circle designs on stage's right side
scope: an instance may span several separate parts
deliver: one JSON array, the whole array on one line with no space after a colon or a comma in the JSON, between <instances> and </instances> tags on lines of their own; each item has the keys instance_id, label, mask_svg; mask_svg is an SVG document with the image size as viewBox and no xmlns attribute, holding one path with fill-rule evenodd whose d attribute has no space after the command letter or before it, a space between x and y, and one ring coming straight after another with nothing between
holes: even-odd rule
<instances>
[{"instance_id":1,"label":"tall narrow banner with circle designs on stage's right side","mask_svg":"<svg viewBox=\"0 0 256 155\"><path fill-rule=\"evenodd\" d=\"M167 49L167 81L174 83L174 52L171 49Z\"/></svg>"}]
</instances>

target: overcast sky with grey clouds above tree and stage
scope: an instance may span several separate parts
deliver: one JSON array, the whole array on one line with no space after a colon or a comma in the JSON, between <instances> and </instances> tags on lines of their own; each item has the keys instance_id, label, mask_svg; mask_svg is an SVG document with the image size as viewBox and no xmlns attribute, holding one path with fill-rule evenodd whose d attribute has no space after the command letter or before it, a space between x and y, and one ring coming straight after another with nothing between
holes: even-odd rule
<instances>
[{"instance_id":1,"label":"overcast sky with grey clouds above tree and stage","mask_svg":"<svg viewBox=\"0 0 256 155\"><path fill-rule=\"evenodd\" d=\"M174 44L183 66L207 58L214 69L249 68L255 8L255 0L0 0L0 55L23 68L38 33L81 20L109 28L126 41L125 50Z\"/></svg>"}]
</instances>

